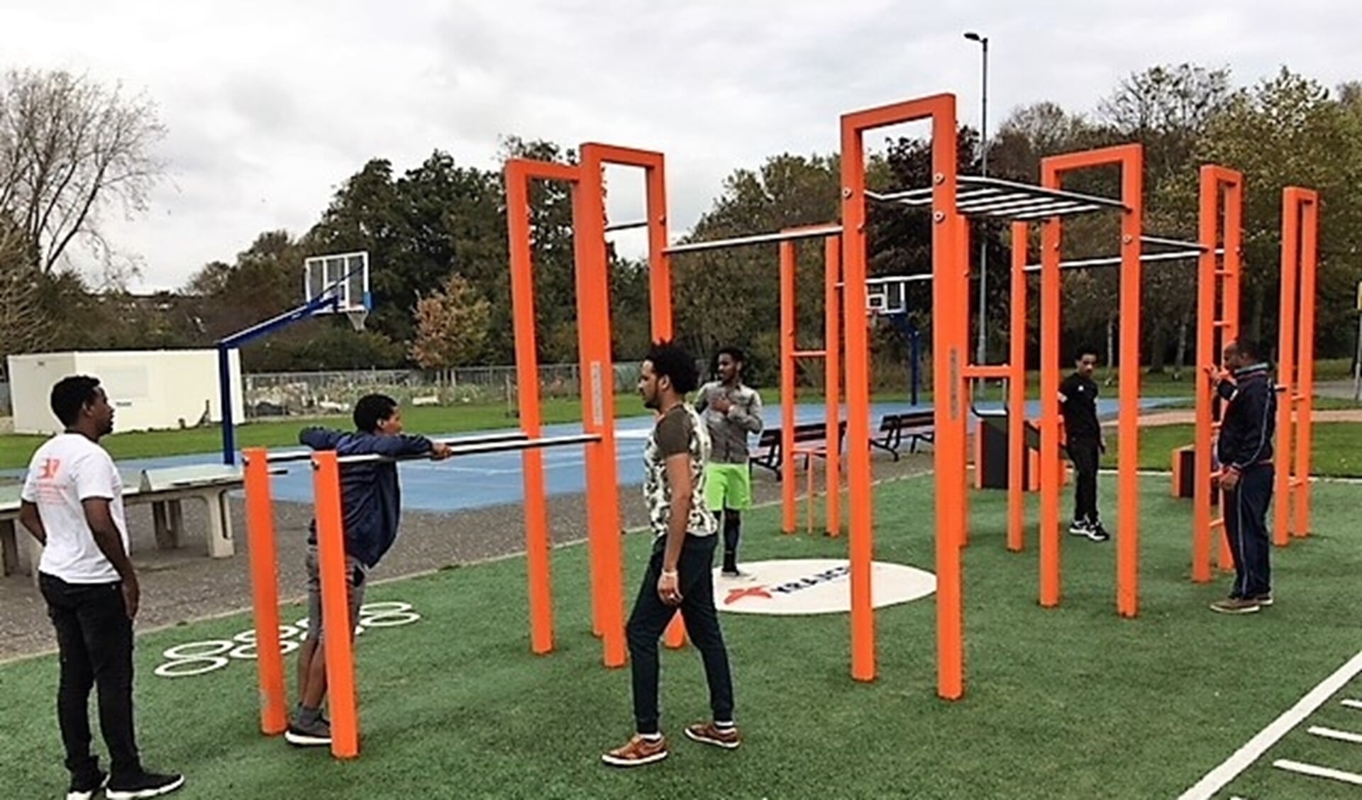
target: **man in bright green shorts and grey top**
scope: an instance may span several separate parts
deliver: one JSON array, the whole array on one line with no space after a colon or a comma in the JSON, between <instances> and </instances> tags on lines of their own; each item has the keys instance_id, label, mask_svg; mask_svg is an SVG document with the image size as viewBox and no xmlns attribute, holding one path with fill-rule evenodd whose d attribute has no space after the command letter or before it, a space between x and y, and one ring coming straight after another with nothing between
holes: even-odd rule
<instances>
[{"instance_id":1,"label":"man in bright green shorts and grey top","mask_svg":"<svg viewBox=\"0 0 1362 800\"><path fill-rule=\"evenodd\" d=\"M714 356L719 380L700 386L695 408L710 429L710 460L704 465L704 503L723 521L723 574L735 578L742 512L752 507L752 471L748 434L761 433L761 395L742 384L746 355L723 347Z\"/></svg>"}]
</instances>

